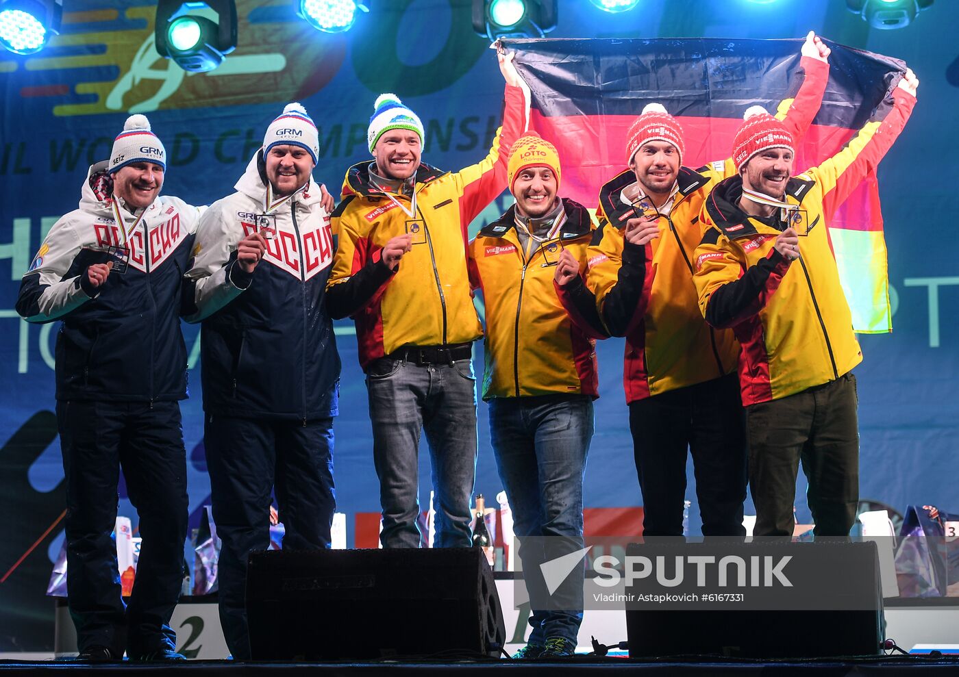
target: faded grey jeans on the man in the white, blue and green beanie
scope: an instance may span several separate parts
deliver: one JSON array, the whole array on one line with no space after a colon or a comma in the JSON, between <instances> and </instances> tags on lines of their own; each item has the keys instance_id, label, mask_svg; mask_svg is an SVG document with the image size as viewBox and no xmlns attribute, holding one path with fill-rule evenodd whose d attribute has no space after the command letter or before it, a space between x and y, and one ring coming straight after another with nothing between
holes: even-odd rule
<instances>
[{"instance_id":1,"label":"faded grey jeans on the man in the white, blue and green beanie","mask_svg":"<svg viewBox=\"0 0 959 677\"><path fill-rule=\"evenodd\" d=\"M380 358L366 370L373 463L380 479L384 548L419 548L419 440L433 470L437 548L468 548L477 465L473 362L416 364Z\"/></svg>"}]
</instances>

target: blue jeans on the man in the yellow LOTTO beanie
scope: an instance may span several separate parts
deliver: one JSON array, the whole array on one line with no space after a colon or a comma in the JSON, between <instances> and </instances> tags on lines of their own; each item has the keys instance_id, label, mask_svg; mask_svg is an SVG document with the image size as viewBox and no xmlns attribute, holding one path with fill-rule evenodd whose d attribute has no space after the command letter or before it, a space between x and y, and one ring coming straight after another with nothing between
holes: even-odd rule
<instances>
[{"instance_id":1,"label":"blue jeans on the man in the yellow LOTTO beanie","mask_svg":"<svg viewBox=\"0 0 959 677\"><path fill-rule=\"evenodd\" d=\"M542 646L562 637L574 645L583 620L581 578L570 576L556 593L577 599L579 608L538 610L535 600L550 595L539 563L583 548L583 473L593 437L593 401L586 395L494 398L489 428L533 606L529 643Z\"/></svg>"}]
</instances>

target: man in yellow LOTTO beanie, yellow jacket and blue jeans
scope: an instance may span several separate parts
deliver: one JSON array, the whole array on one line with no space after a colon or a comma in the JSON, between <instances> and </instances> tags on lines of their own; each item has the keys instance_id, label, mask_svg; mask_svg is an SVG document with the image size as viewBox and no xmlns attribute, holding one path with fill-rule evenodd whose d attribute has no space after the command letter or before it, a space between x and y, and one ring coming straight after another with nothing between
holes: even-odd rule
<instances>
[{"instance_id":1,"label":"man in yellow LOTTO beanie, yellow jacket and blue jeans","mask_svg":"<svg viewBox=\"0 0 959 677\"><path fill-rule=\"evenodd\" d=\"M571 319L553 282L554 271L564 281L585 271L593 227L585 207L557 198L560 176L555 147L534 132L521 137L507 175L516 204L469 246L470 276L486 308L482 397L532 605L518 658L571 655L583 618L581 581L571 577L569 590L550 598L539 569L583 548L596 398L590 323ZM583 311L598 322L595 303Z\"/></svg>"}]
</instances>

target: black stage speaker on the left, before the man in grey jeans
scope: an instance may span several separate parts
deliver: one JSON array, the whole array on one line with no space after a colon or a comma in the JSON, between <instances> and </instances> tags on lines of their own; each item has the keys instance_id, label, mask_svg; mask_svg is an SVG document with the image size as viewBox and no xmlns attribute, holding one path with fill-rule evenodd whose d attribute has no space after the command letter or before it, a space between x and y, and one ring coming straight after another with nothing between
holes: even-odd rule
<instances>
[{"instance_id":1,"label":"black stage speaker on the left, before the man in grey jeans","mask_svg":"<svg viewBox=\"0 0 959 677\"><path fill-rule=\"evenodd\" d=\"M506 640L474 548L254 552L246 616L258 661L495 657Z\"/></svg>"}]
</instances>

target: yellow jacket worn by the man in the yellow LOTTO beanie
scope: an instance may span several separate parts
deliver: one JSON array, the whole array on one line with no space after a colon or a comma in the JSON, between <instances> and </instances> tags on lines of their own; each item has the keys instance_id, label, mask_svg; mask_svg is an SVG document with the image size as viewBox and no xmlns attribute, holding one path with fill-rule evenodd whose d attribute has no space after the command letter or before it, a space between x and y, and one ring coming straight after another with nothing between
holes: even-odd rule
<instances>
[{"instance_id":1,"label":"yellow jacket worn by the man in the yellow LOTTO beanie","mask_svg":"<svg viewBox=\"0 0 959 677\"><path fill-rule=\"evenodd\" d=\"M526 259L516 234L515 210L479 231L469 245L470 278L486 307L486 365L482 397L524 397L596 391L596 303L567 314L553 274L563 249L586 261L593 222L589 212L563 199L566 221ZM585 264L580 268L585 272ZM581 284L581 283L580 283Z\"/></svg>"}]
</instances>

